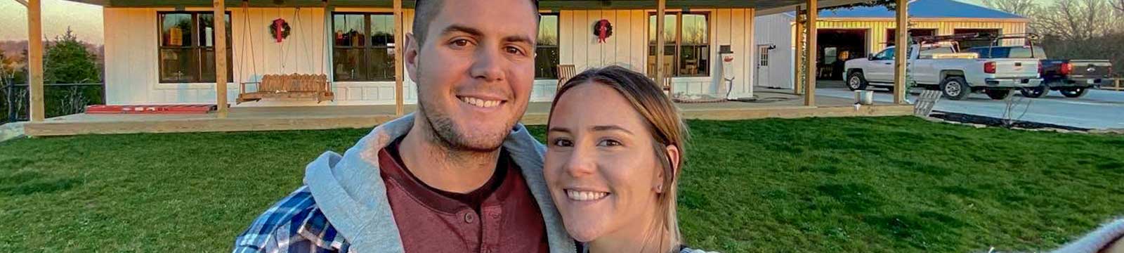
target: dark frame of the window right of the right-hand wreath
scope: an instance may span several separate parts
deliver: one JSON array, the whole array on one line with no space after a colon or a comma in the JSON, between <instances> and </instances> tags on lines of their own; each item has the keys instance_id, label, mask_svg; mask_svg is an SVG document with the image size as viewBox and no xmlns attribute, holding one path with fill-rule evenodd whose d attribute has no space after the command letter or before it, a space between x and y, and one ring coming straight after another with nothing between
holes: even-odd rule
<instances>
[{"instance_id":1,"label":"dark frame of the window right of the right-hand wreath","mask_svg":"<svg viewBox=\"0 0 1124 253\"><path fill-rule=\"evenodd\" d=\"M688 11L665 11L663 15L664 16L672 16L672 15L676 16L674 44L667 45L668 42L664 42L665 45L664 45L664 52L663 52L664 54L668 54L667 47L672 47L673 52L674 52L671 55L672 58L673 58L673 62L671 63L671 70L670 70L671 71L670 74L671 75L670 76L671 78L709 78L713 74L713 70L710 67L710 61L714 60L713 56L714 56L714 49L715 49L714 45L713 45L714 43L711 42L711 39L714 39L714 36L711 36L711 34L710 34L710 31L713 31L713 29L714 29L714 27L711 26L713 24L710 24L711 21L714 21L714 20L710 19L711 17L714 17L714 12L713 11L708 11L708 10L704 10L704 11L690 11L690 10L688 10ZM706 39L704 39L705 44L683 44L683 15L701 15L704 17L704 20L706 20L706 33L704 33L706 35ZM655 16L656 16L655 11L649 11L647 12L647 19L646 20L649 21L649 24L647 24L649 28L651 28L652 26L654 26L654 24L651 24L651 20L652 20L652 17L655 17ZM663 17L663 18L667 18L667 17ZM667 28L667 26L664 26L664 28ZM646 34L649 36L647 37L647 51L649 52L646 53L646 55L647 56L655 56L655 51L653 51L655 48L655 39L653 39L652 37L650 37L653 34L653 31L649 31ZM661 34L656 34L655 36L662 36L662 35ZM682 57L683 57L683 46L689 46L689 47L706 47L706 58L707 58L706 71L700 71L699 74L680 74L680 70L682 67L680 63L681 63ZM654 63L649 63L649 64L654 64ZM653 75L655 73L647 73L647 74L649 75Z\"/></svg>"}]
</instances>

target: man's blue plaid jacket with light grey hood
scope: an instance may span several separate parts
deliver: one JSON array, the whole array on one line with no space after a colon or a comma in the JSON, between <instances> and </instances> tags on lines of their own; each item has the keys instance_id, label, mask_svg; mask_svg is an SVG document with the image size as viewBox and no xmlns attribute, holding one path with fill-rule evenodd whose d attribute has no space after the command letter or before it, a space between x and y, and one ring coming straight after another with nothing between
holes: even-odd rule
<instances>
[{"instance_id":1,"label":"man's blue plaid jacket with light grey hood","mask_svg":"<svg viewBox=\"0 0 1124 253\"><path fill-rule=\"evenodd\" d=\"M375 127L342 156L321 154L306 168L305 187L254 220L235 242L235 252L402 252L378 152L413 126L414 116L408 115ZM517 124L502 148L518 165L542 210L551 252L577 252L543 178L545 146ZM326 233L332 229L336 233Z\"/></svg>"}]
</instances>

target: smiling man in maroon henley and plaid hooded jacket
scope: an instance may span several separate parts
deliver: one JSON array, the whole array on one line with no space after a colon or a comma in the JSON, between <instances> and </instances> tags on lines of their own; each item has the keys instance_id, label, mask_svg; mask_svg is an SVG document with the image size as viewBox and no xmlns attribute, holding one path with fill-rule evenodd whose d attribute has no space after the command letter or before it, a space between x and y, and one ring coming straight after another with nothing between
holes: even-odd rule
<instances>
[{"instance_id":1,"label":"smiling man in maroon henley and plaid hooded jacket","mask_svg":"<svg viewBox=\"0 0 1124 253\"><path fill-rule=\"evenodd\" d=\"M502 8L497 8L502 7ZM308 164L235 252L575 252L522 125L535 0L419 0L405 62L419 110Z\"/></svg>"}]
</instances>

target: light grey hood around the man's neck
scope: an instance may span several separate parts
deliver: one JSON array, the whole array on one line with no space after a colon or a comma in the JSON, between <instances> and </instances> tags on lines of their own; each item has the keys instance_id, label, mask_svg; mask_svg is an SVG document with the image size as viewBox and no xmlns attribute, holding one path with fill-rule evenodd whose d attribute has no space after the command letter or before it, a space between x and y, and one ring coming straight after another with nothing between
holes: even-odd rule
<instances>
[{"instance_id":1,"label":"light grey hood around the man's neck","mask_svg":"<svg viewBox=\"0 0 1124 253\"><path fill-rule=\"evenodd\" d=\"M414 115L374 128L343 155L325 152L308 164L305 184L316 205L351 244L365 252L404 252L395 217L387 201L387 187L380 175L378 152L414 127ZM575 252L573 240L562 225L543 178L545 146L527 128L516 124L504 146L518 165L531 193L542 210L551 252Z\"/></svg>"}]
</instances>

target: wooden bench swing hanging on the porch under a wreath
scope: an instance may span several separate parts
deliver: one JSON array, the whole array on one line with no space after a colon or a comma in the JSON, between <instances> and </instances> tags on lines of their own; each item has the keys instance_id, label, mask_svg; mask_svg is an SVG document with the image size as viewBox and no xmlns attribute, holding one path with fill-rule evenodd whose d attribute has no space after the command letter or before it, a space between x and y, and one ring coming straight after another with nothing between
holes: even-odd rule
<instances>
[{"instance_id":1,"label":"wooden bench swing hanging on the porch under a wreath","mask_svg":"<svg viewBox=\"0 0 1124 253\"><path fill-rule=\"evenodd\" d=\"M257 90L246 92L246 84L256 83ZM316 102L335 101L332 84L324 74L266 74L259 82L244 82L237 103L266 98L310 98Z\"/></svg>"}]
</instances>

